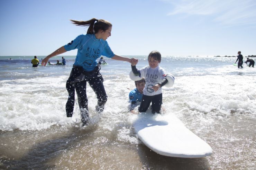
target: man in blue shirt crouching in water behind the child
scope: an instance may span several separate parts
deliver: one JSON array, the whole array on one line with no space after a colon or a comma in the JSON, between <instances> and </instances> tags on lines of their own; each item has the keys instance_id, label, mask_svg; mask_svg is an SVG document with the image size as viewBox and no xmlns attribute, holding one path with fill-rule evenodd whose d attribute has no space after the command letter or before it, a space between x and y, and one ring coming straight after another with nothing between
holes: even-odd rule
<instances>
[{"instance_id":1,"label":"man in blue shirt crouching in water behind the child","mask_svg":"<svg viewBox=\"0 0 256 170\"><path fill-rule=\"evenodd\" d=\"M145 79L141 79L139 81L135 81L135 86L136 88L133 89L130 93L129 93L129 102L130 107L129 107L129 111L132 113L135 113L134 109L136 106L138 106L138 104L140 104L141 102L141 98L142 98L142 94L143 94L143 89L145 88L145 84L146 81Z\"/></svg>"}]
</instances>

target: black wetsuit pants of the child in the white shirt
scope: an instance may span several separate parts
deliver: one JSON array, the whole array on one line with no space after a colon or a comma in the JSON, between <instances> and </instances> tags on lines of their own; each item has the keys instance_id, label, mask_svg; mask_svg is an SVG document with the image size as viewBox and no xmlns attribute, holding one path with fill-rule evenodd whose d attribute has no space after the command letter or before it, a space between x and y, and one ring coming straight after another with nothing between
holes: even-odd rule
<instances>
[{"instance_id":1,"label":"black wetsuit pants of the child in the white shirt","mask_svg":"<svg viewBox=\"0 0 256 170\"><path fill-rule=\"evenodd\" d=\"M161 106L162 106L162 99L163 99L163 95L161 94L157 94L155 96L146 96L146 95L142 95L141 98L141 103L139 106L139 112L145 112L147 111L150 103L152 102L152 113L160 113L161 110Z\"/></svg>"}]
</instances>

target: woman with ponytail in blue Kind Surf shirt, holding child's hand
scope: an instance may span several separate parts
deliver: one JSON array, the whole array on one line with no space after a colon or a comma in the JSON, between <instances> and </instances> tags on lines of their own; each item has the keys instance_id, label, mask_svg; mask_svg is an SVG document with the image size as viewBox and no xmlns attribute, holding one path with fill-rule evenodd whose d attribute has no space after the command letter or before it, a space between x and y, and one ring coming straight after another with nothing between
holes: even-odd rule
<instances>
[{"instance_id":1,"label":"woman with ponytail in blue Kind Surf shirt, holding child's hand","mask_svg":"<svg viewBox=\"0 0 256 170\"><path fill-rule=\"evenodd\" d=\"M60 47L46 58L43 59L42 65L45 66L51 57L62 54L66 51L77 49L75 63L73 65L70 77L66 82L68 91L68 99L66 103L67 117L72 117L75 101L75 90L77 93L79 108L82 118L82 126L87 123L88 99L86 96L86 82L89 83L95 92L98 104L96 110L102 112L104 105L107 102L107 94L103 86L103 78L97 59L101 56L106 56L111 59L137 63L135 58L121 57L112 52L108 42L108 37L111 36L112 24L103 19L92 18L88 21L71 20L77 26L89 26L87 34L76 37L73 41Z\"/></svg>"}]
</instances>

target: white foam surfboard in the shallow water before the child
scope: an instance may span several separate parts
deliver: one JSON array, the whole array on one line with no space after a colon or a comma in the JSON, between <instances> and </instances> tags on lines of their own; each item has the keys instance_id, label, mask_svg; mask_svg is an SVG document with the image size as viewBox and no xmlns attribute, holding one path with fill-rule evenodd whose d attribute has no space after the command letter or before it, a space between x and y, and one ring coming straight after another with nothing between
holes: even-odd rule
<instances>
[{"instance_id":1,"label":"white foam surfboard in the shallow water before the child","mask_svg":"<svg viewBox=\"0 0 256 170\"><path fill-rule=\"evenodd\" d=\"M212 154L209 144L172 114L138 114L134 127L138 138L158 154L180 158L201 158Z\"/></svg>"}]
</instances>

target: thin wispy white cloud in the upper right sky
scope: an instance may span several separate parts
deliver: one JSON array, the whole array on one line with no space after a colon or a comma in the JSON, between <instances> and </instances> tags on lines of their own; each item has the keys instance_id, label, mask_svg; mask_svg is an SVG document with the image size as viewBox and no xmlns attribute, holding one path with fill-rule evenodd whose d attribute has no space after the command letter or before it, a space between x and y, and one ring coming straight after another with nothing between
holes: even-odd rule
<instances>
[{"instance_id":1,"label":"thin wispy white cloud in the upper right sky","mask_svg":"<svg viewBox=\"0 0 256 170\"><path fill-rule=\"evenodd\" d=\"M226 26L246 24L251 26L256 22L255 0L181 0L175 3L168 2L174 6L174 9L167 14L169 16L177 14L212 16L213 21Z\"/></svg>"}]
</instances>

